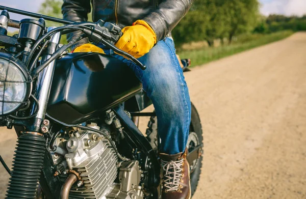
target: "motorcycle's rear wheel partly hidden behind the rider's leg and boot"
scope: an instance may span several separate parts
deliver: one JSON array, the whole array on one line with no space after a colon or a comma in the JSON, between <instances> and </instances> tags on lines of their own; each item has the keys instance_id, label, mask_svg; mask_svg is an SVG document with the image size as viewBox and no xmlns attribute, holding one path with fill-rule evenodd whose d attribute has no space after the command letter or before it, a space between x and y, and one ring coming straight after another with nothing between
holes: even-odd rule
<instances>
[{"instance_id":1,"label":"motorcycle's rear wheel partly hidden behind the rider's leg and boot","mask_svg":"<svg viewBox=\"0 0 306 199\"><path fill-rule=\"evenodd\" d=\"M157 133L157 118L153 116L150 118L148 123L148 128L146 130L147 139L149 140L152 148L157 152L158 151L158 133ZM191 123L189 127L189 136L187 141L188 153L194 151L194 149L202 146L203 135L202 135L202 126L200 117L195 106L191 103ZM200 147L200 152L202 147ZM202 153L202 152L201 152ZM190 186L191 186L191 196L194 194L198 181L201 174L202 166L202 155L199 155L197 159L189 162L190 164Z\"/></svg>"}]
</instances>

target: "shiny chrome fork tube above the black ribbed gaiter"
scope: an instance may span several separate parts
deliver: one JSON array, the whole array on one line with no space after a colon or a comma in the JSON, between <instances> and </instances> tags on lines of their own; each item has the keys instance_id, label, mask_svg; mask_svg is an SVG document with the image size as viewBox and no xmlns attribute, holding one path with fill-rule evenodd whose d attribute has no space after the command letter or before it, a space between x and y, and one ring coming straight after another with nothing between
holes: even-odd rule
<instances>
[{"instance_id":1,"label":"shiny chrome fork tube above the black ribbed gaiter","mask_svg":"<svg viewBox=\"0 0 306 199\"><path fill-rule=\"evenodd\" d=\"M48 27L47 32L55 29L56 27ZM56 51L56 48L60 42L61 34L55 33L48 44L48 52L42 56L41 63L44 63L47 59L50 58L50 56ZM50 94L50 88L52 84L53 79L53 73L55 68L56 60L51 62L43 71L39 74L38 80L37 80L37 92L36 92L36 98L39 101L39 110L37 112L36 118L35 118L35 124L34 124L34 130L39 131L41 121L44 119L48 98Z\"/></svg>"}]
</instances>

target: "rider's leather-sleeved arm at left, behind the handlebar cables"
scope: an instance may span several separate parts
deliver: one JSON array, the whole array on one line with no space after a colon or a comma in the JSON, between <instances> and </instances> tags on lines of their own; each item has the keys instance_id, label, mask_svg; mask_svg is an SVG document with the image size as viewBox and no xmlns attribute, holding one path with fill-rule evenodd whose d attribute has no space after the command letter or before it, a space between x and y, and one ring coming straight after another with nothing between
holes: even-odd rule
<instances>
[{"instance_id":1,"label":"rider's leather-sleeved arm at left, behind the handlebar cables","mask_svg":"<svg viewBox=\"0 0 306 199\"><path fill-rule=\"evenodd\" d=\"M63 18L70 21L82 22L87 21L87 14L90 13L90 0L64 0L62 6ZM73 38L81 35L81 31L76 31L67 34L67 41L71 41ZM84 38L72 46L72 49L88 43L88 39Z\"/></svg>"}]
</instances>

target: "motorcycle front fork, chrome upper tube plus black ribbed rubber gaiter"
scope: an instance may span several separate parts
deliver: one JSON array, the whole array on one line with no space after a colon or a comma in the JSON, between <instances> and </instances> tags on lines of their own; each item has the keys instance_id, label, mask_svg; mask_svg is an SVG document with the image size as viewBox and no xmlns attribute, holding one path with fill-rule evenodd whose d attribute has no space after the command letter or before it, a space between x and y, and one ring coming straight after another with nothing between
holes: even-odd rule
<instances>
[{"instance_id":1,"label":"motorcycle front fork, chrome upper tube plus black ribbed rubber gaiter","mask_svg":"<svg viewBox=\"0 0 306 199\"><path fill-rule=\"evenodd\" d=\"M48 32L53 29L55 27L49 27ZM42 57L42 63L56 51L60 37L60 33L55 33L52 36L47 53ZM51 62L38 77L36 90L36 98L39 101L38 113L34 118L34 124L18 137L6 199L36 198L46 152L46 141L43 133L48 132L46 122L43 122L43 120L55 64L56 61Z\"/></svg>"}]
</instances>

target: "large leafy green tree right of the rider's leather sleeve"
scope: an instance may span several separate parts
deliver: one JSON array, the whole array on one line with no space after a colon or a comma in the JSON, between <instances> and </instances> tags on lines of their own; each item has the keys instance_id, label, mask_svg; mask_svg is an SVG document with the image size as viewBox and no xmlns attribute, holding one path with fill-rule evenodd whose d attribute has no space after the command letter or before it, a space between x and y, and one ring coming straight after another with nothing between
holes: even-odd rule
<instances>
[{"instance_id":1,"label":"large leafy green tree right of the rider's leather sleeve","mask_svg":"<svg viewBox=\"0 0 306 199\"><path fill-rule=\"evenodd\" d=\"M178 44L206 40L210 46L216 39L252 32L258 24L258 0L199 0L172 31Z\"/></svg>"}]
</instances>

